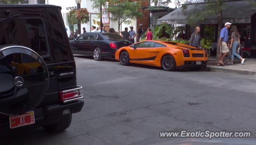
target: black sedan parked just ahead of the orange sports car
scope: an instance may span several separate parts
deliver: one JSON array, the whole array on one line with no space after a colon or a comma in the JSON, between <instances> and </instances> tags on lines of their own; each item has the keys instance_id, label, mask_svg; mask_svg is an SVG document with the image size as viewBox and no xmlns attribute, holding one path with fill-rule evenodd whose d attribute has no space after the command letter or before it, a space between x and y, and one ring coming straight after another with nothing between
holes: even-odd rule
<instances>
[{"instance_id":1,"label":"black sedan parked just ahead of the orange sports car","mask_svg":"<svg viewBox=\"0 0 256 145\"><path fill-rule=\"evenodd\" d=\"M70 41L73 54L93 56L96 61L102 61L104 57L115 57L119 48L131 44L122 36L108 32L86 32Z\"/></svg>"}]
</instances>

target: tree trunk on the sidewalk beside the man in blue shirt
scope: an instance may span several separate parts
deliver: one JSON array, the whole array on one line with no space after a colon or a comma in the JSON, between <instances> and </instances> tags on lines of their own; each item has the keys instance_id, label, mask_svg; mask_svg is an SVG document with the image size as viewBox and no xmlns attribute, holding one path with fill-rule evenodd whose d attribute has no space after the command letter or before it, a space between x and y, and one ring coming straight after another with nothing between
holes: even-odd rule
<instances>
[{"instance_id":1,"label":"tree trunk on the sidewalk beside the man in blue shirt","mask_svg":"<svg viewBox=\"0 0 256 145\"><path fill-rule=\"evenodd\" d=\"M220 8L222 6L221 0L218 0L217 4L218 7ZM222 29L222 9L218 11L218 39L217 39L217 45L219 43L220 39L220 30ZM220 47L217 46L217 52L216 52L216 60L219 61L219 56L220 56Z\"/></svg>"}]
</instances>

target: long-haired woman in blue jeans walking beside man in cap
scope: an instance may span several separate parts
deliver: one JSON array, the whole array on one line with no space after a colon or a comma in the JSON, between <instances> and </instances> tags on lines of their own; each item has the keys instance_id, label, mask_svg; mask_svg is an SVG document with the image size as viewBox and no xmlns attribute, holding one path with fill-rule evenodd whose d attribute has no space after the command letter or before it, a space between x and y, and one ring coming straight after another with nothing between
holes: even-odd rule
<instances>
[{"instance_id":1,"label":"long-haired woman in blue jeans walking beside man in cap","mask_svg":"<svg viewBox=\"0 0 256 145\"><path fill-rule=\"evenodd\" d=\"M234 61L234 56L236 56L238 59L241 60L241 64L244 63L244 58L242 58L239 54L236 53L238 46L240 46L240 35L237 31L237 27L236 25L232 25L231 26L231 45L230 48L232 48L232 55L231 55L231 61L228 62L227 64L229 65L233 65L233 61Z\"/></svg>"}]
</instances>

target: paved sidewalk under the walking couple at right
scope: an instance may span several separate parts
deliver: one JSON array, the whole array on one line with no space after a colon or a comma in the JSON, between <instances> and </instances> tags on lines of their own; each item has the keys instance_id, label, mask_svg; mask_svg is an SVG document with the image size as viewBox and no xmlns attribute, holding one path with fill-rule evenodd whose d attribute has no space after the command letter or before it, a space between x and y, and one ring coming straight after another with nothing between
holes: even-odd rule
<instances>
[{"instance_id":1,"label":"paved sidewalk under the walking couple at right","mask_svg":"<svg viewBox=\"0 0 256 145\"><path fill-rule=\"evenodd\" d=\"M226 64L228 61L226 60L224 63ZM238 59L234 60L234 65L218 66L217 64L216 57L208 58L207 67L204 71L231 72L256 76L256 59L245 59L243 65L240 64Z\"/></svg>"}]
</instances>

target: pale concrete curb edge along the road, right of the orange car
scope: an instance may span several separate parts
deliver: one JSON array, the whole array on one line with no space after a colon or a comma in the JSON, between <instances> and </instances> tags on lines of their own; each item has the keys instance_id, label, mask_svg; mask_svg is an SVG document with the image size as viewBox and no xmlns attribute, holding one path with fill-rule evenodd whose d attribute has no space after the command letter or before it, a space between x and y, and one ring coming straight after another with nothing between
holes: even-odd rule
<instances>
[{"instance_id":1,"label":"pale concrete curb edge along the road, right of the orange car","mask_svg":"<svg viewBox=\"0 0 256 145\"><path fill-rule=\"evenodd\" d=\"M248 69L231 69L227 67L217 67L217 66L211 66L207 65L206 68L202 69L203 71L213 71L213 72L229 72L229 73L237 73L237 74L247 74L256 76L256 71L248 70Z\"/></svg>"}]
</instances>

